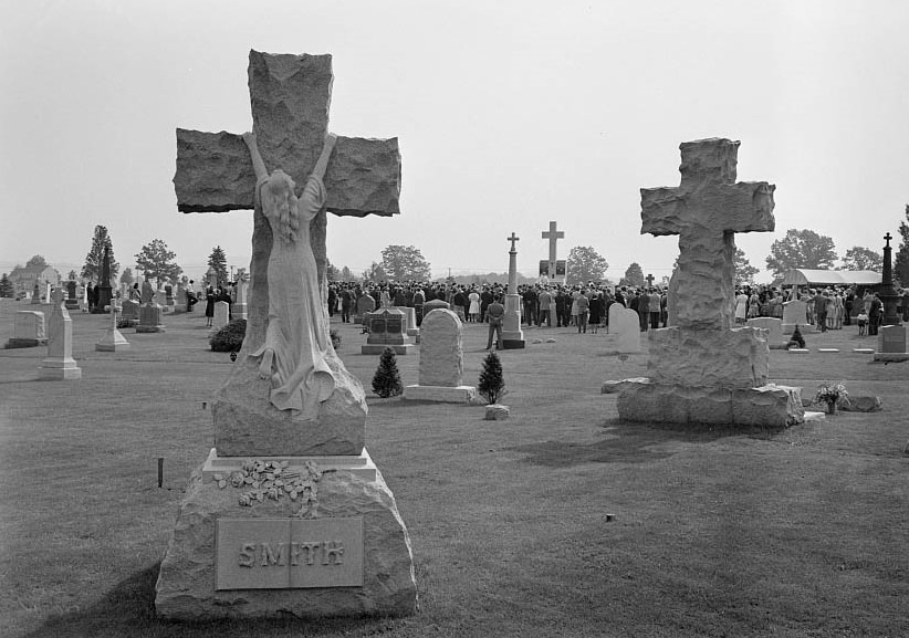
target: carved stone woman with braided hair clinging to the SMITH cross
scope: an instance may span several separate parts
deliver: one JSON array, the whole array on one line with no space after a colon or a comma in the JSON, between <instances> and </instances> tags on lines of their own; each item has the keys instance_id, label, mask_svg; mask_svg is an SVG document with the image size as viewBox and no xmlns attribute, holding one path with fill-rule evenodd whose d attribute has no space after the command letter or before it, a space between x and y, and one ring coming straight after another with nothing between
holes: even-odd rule
<instances>
[{"instance_id":1,"label":"carved stone woman with braided hair clinging to the SMITH cross","mask_svg":"<svg viewBox=\"0 0 909 638\"><path fill-rule=\"evenodd\" d=\"M270 399L294 418L312 420L318 404L334 391L335 379L326 357L333 355L323 326L322 297L315 258L310 247L310 221L325 203L322 182L335 136L327 135L322 155L303 192L283 170L269 174L253 133L243 135L255 169L255 199L272 229L269 257L269 326L265 342L252 357L261 357L259 374L271 379Z\"/></svg>"}]
</instances>

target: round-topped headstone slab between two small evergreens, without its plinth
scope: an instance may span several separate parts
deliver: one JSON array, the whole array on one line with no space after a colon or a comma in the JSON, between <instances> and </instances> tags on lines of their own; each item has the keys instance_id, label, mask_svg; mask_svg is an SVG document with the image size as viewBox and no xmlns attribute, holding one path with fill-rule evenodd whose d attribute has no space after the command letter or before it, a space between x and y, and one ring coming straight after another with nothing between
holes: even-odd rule
<instances>
[{"instance_id":1,"label":"round-topped headstone slab between two small evergreens, without its plinth","mask_svg":"<svg viewBox=\"0 0 909 638\"><path fill-rule=\"evenodd\" d=\"M433 310L424 317L420 326L419 385L452 388L462 385L462 330L461 320L447 308Z\"/></svg>"}]
</instances>

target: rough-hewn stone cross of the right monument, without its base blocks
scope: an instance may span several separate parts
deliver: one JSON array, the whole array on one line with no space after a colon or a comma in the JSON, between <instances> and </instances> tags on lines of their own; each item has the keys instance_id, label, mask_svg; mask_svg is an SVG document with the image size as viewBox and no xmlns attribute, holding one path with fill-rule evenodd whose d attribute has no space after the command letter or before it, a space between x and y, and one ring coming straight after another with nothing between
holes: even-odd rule
<instances>
[{"instance_id":1,"label":"rough-hewn stone cross of the right monument, without its base blocks","mask_svg":"<svg viewBox=\"0 0 909 638\"><path fill-rule=\"evenodd\" d=\"M685 142L681 185L641 188L641 234L679 236L672 275L673 325L694 330L734 327L736 232L772 231L773 191L766 181L735 182L739 142ZM671 322L670 322L671 323Z\"/></svg>"}]
</instances>

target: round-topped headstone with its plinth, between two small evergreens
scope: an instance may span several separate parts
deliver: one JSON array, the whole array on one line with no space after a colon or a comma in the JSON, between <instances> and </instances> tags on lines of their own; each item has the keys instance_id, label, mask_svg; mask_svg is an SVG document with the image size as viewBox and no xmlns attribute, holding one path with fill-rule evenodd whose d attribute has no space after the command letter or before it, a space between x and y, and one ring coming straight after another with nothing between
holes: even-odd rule
<instances>
[{"instance_id":1,"label":"round-topped headstone with its plinth, between two small evergreens","mask_svg":"<svg viewBox=\"0 0 909 638\"><path fill-rule=\"evenodd\" d=\"M462 383L463 324L447 308L436 308L420 326L419 383L404 388L404 398L446 404L469 402L477 388Z\"/></svg>"}]
</instances>

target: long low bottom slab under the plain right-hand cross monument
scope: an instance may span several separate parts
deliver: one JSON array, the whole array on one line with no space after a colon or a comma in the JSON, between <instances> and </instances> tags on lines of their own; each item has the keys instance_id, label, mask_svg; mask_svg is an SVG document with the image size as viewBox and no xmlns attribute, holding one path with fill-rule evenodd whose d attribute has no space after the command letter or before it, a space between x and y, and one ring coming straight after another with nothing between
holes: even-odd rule
<instances>
[{"instance_id":1,"label":"long low bottom slab under the plain right-hand cross monument","mask_svg":"<svg viewBox=\"0 0 909 638\"><path fill-rule=\"evenodd\" d=\"M762 426L804 421L802 388L766 385L722 388L628 379L618 394L619 418L629 421Z\"/></svg>"}]
</instances>

